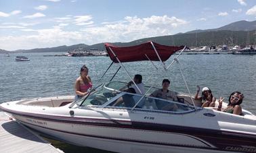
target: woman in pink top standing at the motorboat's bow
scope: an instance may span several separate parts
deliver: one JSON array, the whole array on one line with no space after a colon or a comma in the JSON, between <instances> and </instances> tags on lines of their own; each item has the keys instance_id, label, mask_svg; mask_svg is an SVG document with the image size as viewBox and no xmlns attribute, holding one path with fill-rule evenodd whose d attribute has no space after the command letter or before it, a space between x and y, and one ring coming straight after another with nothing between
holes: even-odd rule
<instances>
[{"instance_id":1,"label":"woman in pink top standing at the motorboat's bow","mask_svg":"<svg viewBox=\"0 0 256 153\"><path fill-rule=\"evenodd\" d=\"M83 65L80 70L80 76L77 78L74 84L74 91L76 92L75 100L79 100L86 94L88 94L89 88L92 87L91 78L88 75L88 68Z\"/></svg>"}]
</instances>

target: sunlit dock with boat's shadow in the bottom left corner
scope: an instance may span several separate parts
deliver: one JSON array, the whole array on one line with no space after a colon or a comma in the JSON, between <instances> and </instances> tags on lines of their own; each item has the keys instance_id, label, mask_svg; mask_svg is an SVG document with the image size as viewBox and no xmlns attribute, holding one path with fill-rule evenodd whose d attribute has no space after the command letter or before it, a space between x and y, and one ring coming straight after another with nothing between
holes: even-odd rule
<instances>
[{"instance_id":1,"label":"sunlit dock with boat's shadow in the bottom left corner","mask_svg":"<svg viewBox=\"0 0 256 153\"><path fill-rule=\"evenodd\" d=\"M10 120L2 111L0 124L1 153L64 153L24 125Z\"/></svg>"}]
</instances>

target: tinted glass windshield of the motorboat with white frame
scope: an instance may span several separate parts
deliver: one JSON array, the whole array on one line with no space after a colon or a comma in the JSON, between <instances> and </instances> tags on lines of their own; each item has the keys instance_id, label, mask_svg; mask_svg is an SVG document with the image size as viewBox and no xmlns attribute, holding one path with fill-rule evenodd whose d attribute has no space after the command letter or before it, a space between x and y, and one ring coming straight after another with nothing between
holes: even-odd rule
<instances>
[{"instance_id":1,"label":"tinted glass windshield of the motorboat with white frame","mask_svg":"<svg viewBox=\"0 0 256 153\"><path fill-rule=\"evenodd\" d=\"M135 110L173 113L188 113L194 111L194 106L182 102L122 92L120 89L126 86L126 84L125 82L110 82L106 85L102 85L100 88L97 88L97 90L91 92L89 96L79 100L77 105L80 106L82 104L81 106L129 110L140 100L140 102L136 104Z\"/></svg>"}]
</instances>

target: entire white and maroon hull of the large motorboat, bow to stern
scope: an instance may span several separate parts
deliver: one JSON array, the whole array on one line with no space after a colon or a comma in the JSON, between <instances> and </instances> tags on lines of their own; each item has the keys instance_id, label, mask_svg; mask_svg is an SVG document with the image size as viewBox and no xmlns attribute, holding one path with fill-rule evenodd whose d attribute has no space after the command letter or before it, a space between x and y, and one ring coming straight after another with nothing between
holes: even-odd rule
<instances>
[{"instance_id":1,"label":"entire white and maroon hull of the large motorboat, bow to stern","mask_svg":"<svg viewBox=\"0 0 256 153\"><path fill-rule=\"evenodd\" d=\"M256 152L254 115L81 107L70 104L73 99L17 100L0 109L58 140L113 152Z\"/></svg>"}]
</instances>

